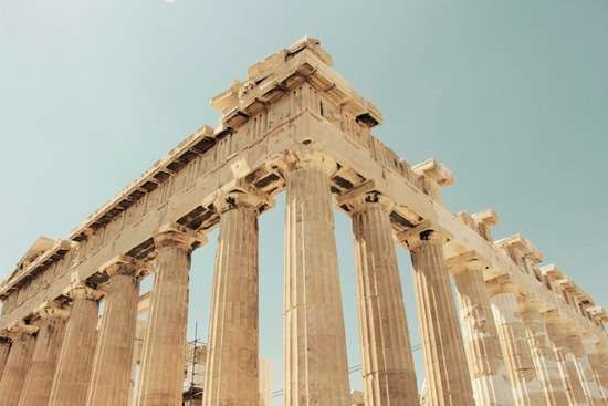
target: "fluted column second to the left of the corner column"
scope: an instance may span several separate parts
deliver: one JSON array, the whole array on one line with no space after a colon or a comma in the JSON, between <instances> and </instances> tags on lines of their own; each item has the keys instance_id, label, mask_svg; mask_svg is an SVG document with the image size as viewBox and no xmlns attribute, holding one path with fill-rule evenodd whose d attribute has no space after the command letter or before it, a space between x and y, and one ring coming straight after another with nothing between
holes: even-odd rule
<instances>
[{"instance_id":1,"label":"fluted column second to the left of the corner column","mask_svg":"<svg viewBox=\"0 0 608 406\"><path fill-rule=\"evenodd\" d=\"M180 406L192 247L203 237L181 226L155 236L157 268L139 385L139 406Z\"/></svg>"}]
</instances>

